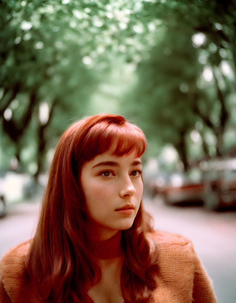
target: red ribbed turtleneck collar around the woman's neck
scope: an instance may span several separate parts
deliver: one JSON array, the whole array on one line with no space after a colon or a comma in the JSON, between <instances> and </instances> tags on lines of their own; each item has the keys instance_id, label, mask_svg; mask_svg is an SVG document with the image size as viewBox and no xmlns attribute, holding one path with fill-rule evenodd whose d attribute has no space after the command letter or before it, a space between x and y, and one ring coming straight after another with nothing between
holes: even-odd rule
<instances>
[{"instance_id":1,"label":"red ribbed turtleneck collar around the woman's neck","mask_svg":"<svg viewBox=\"0 0 236 303\"><path fill-rule=\"evenodd\" d=\"M120 244L121 231L118 231L112 238L104 241L91 241L90 248L99 259L110 259L122 255L123 250Z\"/></svg>"}]
</instances>

